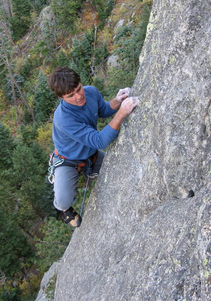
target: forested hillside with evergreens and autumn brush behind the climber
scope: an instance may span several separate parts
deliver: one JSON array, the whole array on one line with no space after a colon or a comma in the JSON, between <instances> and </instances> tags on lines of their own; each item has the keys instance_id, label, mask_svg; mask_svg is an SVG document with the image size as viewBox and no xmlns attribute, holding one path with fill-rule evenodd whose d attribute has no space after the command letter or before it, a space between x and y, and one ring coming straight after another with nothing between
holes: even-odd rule
<instances>
[{"instance_id":1,"label":"forested hillside with evergreens and autumn brush behind the climber","mask_svg":"<svg viewBox=\"0 0 211 301\"><path fill-rule=\"evenodd\" d=\"M54 209L47 178L53 113L60 102L48 75L68 66L106 101L132 86L151 5L0 1L0 301L34 301L44 272L63 255L74 231ZM99 130L109 121L100 119ZM84 186L82 175L76 210Z\"/></svg>"}]
</instances>

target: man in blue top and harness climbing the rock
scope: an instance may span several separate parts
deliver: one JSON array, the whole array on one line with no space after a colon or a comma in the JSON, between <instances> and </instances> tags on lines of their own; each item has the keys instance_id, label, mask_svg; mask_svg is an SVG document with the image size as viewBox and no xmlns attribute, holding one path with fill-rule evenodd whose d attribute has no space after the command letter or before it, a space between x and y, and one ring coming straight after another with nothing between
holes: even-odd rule
<instances>
[{"instance_id":1,"label":"man in blue top and harness climbing the rock","mask_svg":"<svg viewBox=\"0 0 211 301\"><path fill-rule=\"evenodd\" d=\"M130 88L120 89L110 102L104 101L93 86L82 86L80 76L68 67L54 70L49 86L61 102L54 113L51 173L54 176L54 205L65 223L81 225L81 216L71 206L80 171L99 173L104 149L119 133L124 117L138 105L137 97L128 97ZM116 115L101 131L98 117Z\"/></svg>"}]
</instances>

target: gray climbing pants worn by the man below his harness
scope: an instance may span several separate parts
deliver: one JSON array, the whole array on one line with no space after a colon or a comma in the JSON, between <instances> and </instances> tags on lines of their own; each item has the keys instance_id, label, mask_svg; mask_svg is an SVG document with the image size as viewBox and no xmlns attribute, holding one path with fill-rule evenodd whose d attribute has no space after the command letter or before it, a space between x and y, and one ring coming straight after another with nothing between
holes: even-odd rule
<instances>
[{"instance_id":1,"label":"gray climbing pants worn by the man below his harness","mask_svg":"<svg viewBox=\"0 0 211 301\"><path fill-rule=\"evenodd\" d=\"M92 167L93 173L99 173L105 152L98 150L98 156L95 164ZM59 158L53 157L53 163ZM85 172L86 167L81 171ZM54 172L54 206L58 210L67 210L72 205L78 186L79 172L70 166L61 166L55 169Z\"/></svg>"}]
</instances>

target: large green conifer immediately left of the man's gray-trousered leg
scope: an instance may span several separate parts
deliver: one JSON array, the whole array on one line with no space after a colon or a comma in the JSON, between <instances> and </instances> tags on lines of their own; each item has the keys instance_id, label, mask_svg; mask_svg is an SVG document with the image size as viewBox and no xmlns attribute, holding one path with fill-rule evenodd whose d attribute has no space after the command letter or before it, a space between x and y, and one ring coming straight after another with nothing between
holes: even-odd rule
<instances>
[{"instance_id":1,"label":"large green conifer immediately left of the man's gray-trousered leg","mask_svg":"<svg viewBox=\"0 0 211 301\"><path fill-rule=\"evenodd\" d=\"M53 191L47 181L47 155L37 142L29 147L18 144L12 157L13 165L0 177L0 208L24 228L29 229L38 218L52 215ZM17 201L18 200L18 201Z\"/></svg>"}]
</instances>

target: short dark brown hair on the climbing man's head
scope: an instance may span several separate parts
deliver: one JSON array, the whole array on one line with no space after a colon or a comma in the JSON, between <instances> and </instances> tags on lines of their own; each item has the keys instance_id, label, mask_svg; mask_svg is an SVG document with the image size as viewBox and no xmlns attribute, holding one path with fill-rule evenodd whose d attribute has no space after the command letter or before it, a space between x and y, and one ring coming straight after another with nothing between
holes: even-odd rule
<instances>
[{"instance_id":1,"label":"short dark brown hair on the climbing man's head","mask_svg":"<svg viewBox=\"0 0 211 301\"><path fill-rule=\"evenodd\" d=\"M48 78L49 87L59 97L71 93L80 82L80 75L68 67L56 68Z\"/></svg>"}]
</instances>

